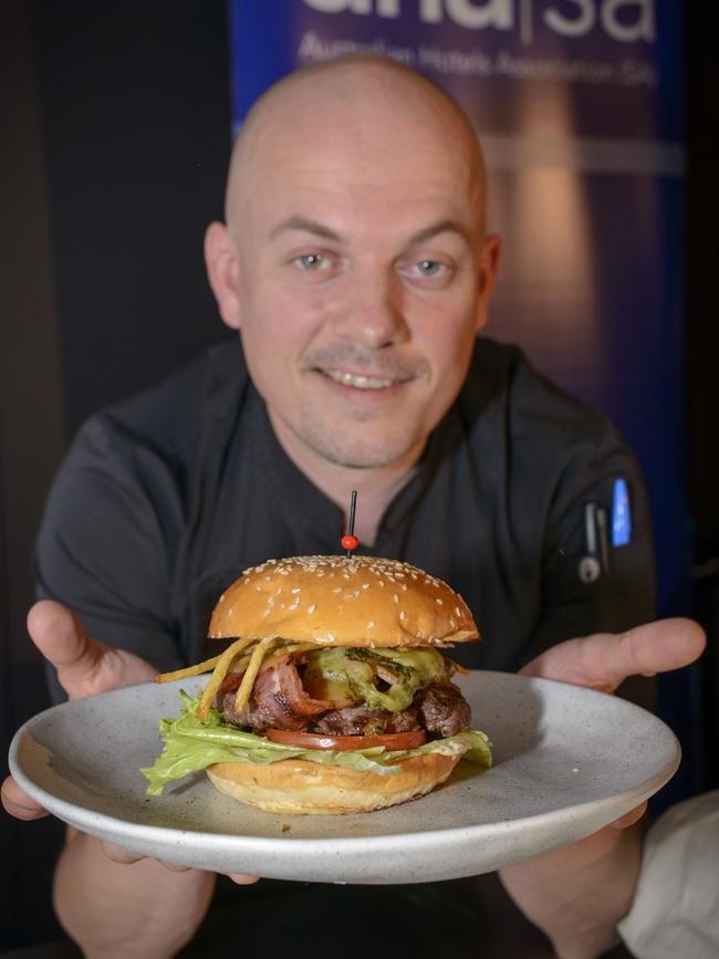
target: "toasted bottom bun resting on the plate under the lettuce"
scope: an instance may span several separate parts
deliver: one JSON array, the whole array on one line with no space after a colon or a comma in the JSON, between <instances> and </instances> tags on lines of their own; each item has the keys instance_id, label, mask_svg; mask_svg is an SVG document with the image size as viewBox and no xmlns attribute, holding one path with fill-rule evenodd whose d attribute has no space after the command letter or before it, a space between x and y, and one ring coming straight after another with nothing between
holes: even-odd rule
<instances>
[{"instance_id":1,"label":"toasted bottom bun resting on the plate under the lettuce","mask_svg":"<svg viewBox=\"0 0 719 959\"><path fill-rule=\"evenodd\" d=\"M210 781L240 802L272 813L369 813L418 799L444 782L458 755L436 752L397 763L400 772L357 772L306 759L283 759L260 765L216 762Z\"/></svg>"}]
</instances>

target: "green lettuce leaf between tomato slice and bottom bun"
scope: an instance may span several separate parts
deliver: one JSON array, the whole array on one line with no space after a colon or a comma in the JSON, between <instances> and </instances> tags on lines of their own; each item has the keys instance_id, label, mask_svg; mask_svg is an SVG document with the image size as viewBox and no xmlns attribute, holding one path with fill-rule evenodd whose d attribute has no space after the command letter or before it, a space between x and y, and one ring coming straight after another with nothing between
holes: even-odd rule
<instances>
[{"instance_id":1,"label":"green lettuce leaf between tomato slice and bottom bun","mask_svg":"<svg viewBox=\"0 0 719 959\"><path fill-rule=\"evenodd\" d=\"M206 769L213 762L279 762L282 759L306 759L311 762L330 763L363 772L395 775L398 767L393 760L427 752L442 755L463 755L479 765L492 764L491 744L483 732L467 729L447 739L436 739L416 749L387 752L382 746L368 749L334 752L325 749L301 749L270 742L262 736L244 732L222 720L217 709L210 709L202 722L197 718L201 690L192 698L180 690L183 711L177 719L160 719L159 734L163 752L152 767L140 770L149 782L147 795L161 795L165 786L177 779Z\"/></svg>"}]
</instances>

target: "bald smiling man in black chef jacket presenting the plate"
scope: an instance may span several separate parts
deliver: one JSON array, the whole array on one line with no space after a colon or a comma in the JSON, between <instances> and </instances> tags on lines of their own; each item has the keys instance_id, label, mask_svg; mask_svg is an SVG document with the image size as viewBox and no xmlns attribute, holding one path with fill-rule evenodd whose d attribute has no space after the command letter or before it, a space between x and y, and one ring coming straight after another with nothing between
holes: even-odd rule
<instances>
[{"instance_id":1,"label":"bald smiling man in black chef jacket presenting the plate","mask_svg":"<svg viewBox=\"0 0 719 959\"><path fill-rule=\"evenodd\" d=\"M415 562L468 600L486 640L467 665L514 669L652 618L632 456L519 351L475 342L499 240L476 137L446 94L376 58L275 86L236 145L227 226L209 228L206 254L242 351L216 348L91 420L50 499L39 592L84 624L58 602L31 611L59 696L199 658L209 609L243 567L338 549L352 489L364 552ZM585 505L608 505L619 477L634 539L585 582ZM679 644L646 671L694 655ZM12 782L3 796L21 817L41 812ZM215 877L110 855L71 833L61 920L87 956L174 955Z\"/></svg>"}]
</instances>

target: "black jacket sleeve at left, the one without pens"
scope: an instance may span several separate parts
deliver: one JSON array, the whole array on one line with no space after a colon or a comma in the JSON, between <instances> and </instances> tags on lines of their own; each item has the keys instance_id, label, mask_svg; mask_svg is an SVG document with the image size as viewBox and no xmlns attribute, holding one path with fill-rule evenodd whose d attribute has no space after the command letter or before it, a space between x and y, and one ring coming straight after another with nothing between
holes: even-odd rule
<instances>
[{"instance_id":1,"label":"black jacket sleeve at left, the one without pens","mask_svg":"<svg viewBox=\"0 0 719 959\"><path fill-rule=\"evenodd\" d=\"M94 417L50 492L34 551L38 598L70 606L103 643L177 668L169 596L181 509L173 465L106 414ZM49 682L63 699L54 670Z\"/></svg>"}]
</instances>

